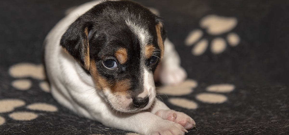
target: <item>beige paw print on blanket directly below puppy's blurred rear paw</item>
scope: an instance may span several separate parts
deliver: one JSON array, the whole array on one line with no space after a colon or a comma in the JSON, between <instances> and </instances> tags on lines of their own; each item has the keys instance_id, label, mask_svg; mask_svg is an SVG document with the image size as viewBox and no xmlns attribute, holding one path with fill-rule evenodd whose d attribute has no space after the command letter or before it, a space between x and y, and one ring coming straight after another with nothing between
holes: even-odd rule
<instances>
[{"instance_id":1,"label":"beige paw print on blanket directly below puppy's blurred rear paw","mask_svg":"<svg viewBox=\"0 0 289 135\"><path fill-rule=\"evenodd\" d=\"M176 86L164 86L158 89L159 94L171 95L171 96L183 96L194 92L194 88L198 86L197 82L192 79L188 79L185 82ZM229 93L235 89L233 84L214 84L206 87L206 91L197 93L195 98L203 103L224 103L228 98L220 93ZM168 101L175 105L186 109L197 109L199 105L187 98L173 97Z\"/></svg>"}]
</instances>

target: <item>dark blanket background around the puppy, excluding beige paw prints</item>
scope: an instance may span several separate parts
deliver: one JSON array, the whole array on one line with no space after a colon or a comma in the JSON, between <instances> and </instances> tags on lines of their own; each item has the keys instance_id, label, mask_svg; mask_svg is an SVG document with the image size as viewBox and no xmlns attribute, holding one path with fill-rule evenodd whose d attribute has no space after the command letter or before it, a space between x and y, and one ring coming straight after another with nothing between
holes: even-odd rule
<instances>
[{"instance_id":1,"label":"dark blanket background around the puppy, excluding beige paw prints","mask_svg":"<svg viewBox=\"0 0 289 135\"><path fill-rule=\"evenodd\" d=\"M86 1L5 0L0 4L0 99L19 98L28 103L47 102L58 112L43 114L37 121L10 120L0 126L0 134L125 134L105 129L96 121L80 118L60 106L50 93L31 92L10 86L14 78L8 69L19 62L40 64L42 42L49 30L65 16L68 8ZM225 94L223 104L200 105L196 110L169 107L192 116L197 129L187 134L286 134L289 133L289 1L137 0L156 8L164 18L168 37L176 45L188 77L198 81L200 93L210 84L230 83L236 89ZM209 49L193 56L184 45L189 32L199 28L208 14L233 16L233 29L240 37L237 47L215 55ZM225 37L225 35L222 35ZM212 39L213 36L206 35ZM33 80L37 82L37 80ZM195 93L194 93L195 94ZM194 100L194 94L185 96ZM170 97L170 96L169 96ZM163 97L166 99L166 97ZM20 108L19 110L25 110ZM213 113L214 112L214 113ZM21 132L24 130L25 132Z\"/></svg>"}]
</instances>

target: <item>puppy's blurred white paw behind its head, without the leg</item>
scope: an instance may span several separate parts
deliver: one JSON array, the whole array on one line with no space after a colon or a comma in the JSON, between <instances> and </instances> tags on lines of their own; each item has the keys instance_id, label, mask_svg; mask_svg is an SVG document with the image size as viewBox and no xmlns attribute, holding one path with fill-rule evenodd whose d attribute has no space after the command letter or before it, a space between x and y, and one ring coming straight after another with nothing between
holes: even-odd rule
<instances>
[{"instance_id":1,"label":"puppy's blurred white paw behind its head, without the leg","mask_svg":"<svg viewBox=\"0 0 289 135\"><path fill-rule=\"evenodd\" d=\"M160 82L164 85L176 85L187 78L186 71L181 66L162 67L160 71Z\"/></svg>"}]
</instances>

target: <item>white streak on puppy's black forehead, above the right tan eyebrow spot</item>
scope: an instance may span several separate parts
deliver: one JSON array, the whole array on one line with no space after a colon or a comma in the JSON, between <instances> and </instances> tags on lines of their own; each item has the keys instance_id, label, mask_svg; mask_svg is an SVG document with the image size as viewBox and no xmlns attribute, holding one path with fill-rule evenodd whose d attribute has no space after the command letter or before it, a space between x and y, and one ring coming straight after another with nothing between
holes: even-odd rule
<instances>
[{"instance_id":1,"label":"white streak on puppy's black forehead, above the right tan eyebrow spot","mask_svg":"<svg viewBox=\"0 0 289 135\"><path fill-rule=\"evenodd\" d=\"M129 19L125 20L125 23L130 27L131 31L134 34L136 34L136 36L138 36L138 39L140 40L142 48L148 44L152 36L149 34L149 32L146 29L144 29L141 25L136 24L135 22Z\"/></svg>"}]
</instances>

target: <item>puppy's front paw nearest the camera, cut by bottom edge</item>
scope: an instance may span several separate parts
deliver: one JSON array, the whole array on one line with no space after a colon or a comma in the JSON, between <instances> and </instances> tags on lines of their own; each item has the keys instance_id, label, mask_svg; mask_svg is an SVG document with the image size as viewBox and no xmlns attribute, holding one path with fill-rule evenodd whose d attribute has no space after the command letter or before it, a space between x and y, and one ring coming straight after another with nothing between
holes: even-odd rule
<instances>
[{"instance_id":1,"label":"puppy's front paw nearest the camera, cut by bottom edge","mask_svg":"<svg viewBox=\"0 0 289 135\"><path fill-rule=\"evenodd\" d=\"M188 132L180 124L168 120L160 119L155 124L148 133L149 135L184 135Z\"/></svg>"}]
</instances>

